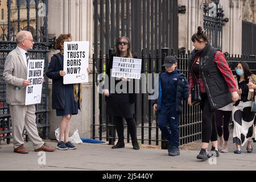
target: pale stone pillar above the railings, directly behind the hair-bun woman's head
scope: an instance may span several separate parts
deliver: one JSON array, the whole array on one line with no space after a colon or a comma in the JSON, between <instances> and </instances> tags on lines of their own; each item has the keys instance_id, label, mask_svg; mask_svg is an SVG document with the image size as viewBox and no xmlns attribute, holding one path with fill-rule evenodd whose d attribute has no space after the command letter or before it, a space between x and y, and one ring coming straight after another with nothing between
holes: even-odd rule
<instances>
[{"instance_id":1,"label":"pale stone pillar above the railings, directly behind the hair-bun woman's head","mask_svg":"<svg viewBox=\"0 0 256 182\"><path fill-rule=\"evenodd\" d=\"M179 14L179 48L192 50L191 36L196 33L197 27L203 27L203 0L179 0L178 5L185 5L185 14Z\"/></svg>"}]
</instances>

